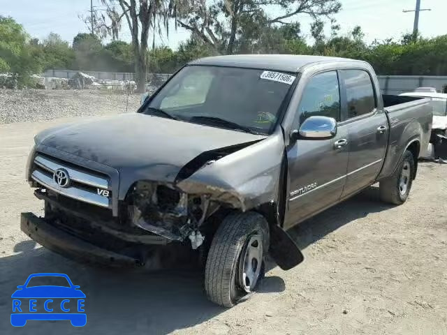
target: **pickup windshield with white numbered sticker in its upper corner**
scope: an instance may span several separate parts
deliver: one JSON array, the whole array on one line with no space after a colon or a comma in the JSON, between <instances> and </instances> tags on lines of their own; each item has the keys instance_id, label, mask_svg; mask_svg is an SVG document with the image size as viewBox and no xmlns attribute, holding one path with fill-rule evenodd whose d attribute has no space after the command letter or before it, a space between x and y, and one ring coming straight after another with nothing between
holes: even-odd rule
<instances>
[{"instance_id":1,"label":"pickup windshield with white numbered sticker in its upper corner","mask_svg":"<svg viewBox=\"0 0 447 335\"><path fill-rule=\"evenodd\" d=\"M295 76L217 66L186 66L143 107L145 114L270 133Z\"/></svg>"}]
</instances>

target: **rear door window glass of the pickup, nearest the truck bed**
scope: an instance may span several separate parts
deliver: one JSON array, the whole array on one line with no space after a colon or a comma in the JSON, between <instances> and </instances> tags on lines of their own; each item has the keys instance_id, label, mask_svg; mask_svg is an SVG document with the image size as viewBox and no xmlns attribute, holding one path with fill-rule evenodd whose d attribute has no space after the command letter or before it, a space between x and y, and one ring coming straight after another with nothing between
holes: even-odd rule
<instances>
[{"instance_id":1,"label":"rear door window glass of the pickup, nearest the truck bed","mask_svg":"<svg viewBox=\"0 0 447 335\"><path fill-rule=\"evenodd\" d=\"M376 98L371 77L364 70L341 70L346 87L348 119L368 114L376 108Z\"/></svg>"}]
</instances>

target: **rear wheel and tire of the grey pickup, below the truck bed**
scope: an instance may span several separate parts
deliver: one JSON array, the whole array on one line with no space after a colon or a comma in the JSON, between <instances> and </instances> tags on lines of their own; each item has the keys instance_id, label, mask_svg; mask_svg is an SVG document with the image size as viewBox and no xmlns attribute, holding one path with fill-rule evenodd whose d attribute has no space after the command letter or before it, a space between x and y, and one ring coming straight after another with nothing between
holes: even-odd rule
<instances>
[{"instance_id":1,"label":"rear wheel and tire of the grey pickup, below the truck bed","mask_svg":"<svg viewBox=\"0 0 447 335\"><path fill-rule=\"evenodd\" d=\"M406 150L395 173L380 181L381 200L390 204L403 204L410 193L415 168L413 154Z\"/></svg>"}]
</instances>

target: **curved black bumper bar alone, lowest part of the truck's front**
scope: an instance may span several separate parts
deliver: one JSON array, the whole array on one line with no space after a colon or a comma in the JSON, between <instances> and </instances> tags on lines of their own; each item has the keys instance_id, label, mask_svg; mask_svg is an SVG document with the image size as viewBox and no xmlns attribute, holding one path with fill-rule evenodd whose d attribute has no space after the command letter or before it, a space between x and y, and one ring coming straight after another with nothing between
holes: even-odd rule
<instances>
[{"instance_id":1,"label":"curved black bumper bar alone, lowest part of the truck's front","mask_svg":"<svg viewBox=\"0 0 447 335\"><path fill-rule=\"evenodd\" d=\"M60 230L33 213L22 213L20 229L47 249L75 260L118 267L142 265L138 258L99 248L68 232Z\"/></svg>"}]
</instances>

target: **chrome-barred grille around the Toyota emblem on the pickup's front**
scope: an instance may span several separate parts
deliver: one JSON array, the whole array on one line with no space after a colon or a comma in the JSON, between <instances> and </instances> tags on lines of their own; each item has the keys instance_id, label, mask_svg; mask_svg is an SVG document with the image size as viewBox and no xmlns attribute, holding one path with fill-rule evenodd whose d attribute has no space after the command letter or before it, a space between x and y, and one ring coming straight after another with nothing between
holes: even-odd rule
<instances>
[{"instance_id":1,"label":"chrome-barred grille around the Toyota emblem on the pickup's front","mask_svg":"<svg viewBox=\"0 0 447 335\"><path fill-rule=\"evenodd\" d=\"M73 181L68 187L62 187L54 180L54 172L63 169ZM82 171L66 163L38 155L34 158L34 170L31 178L44 188L90 204L101 207L110 207L110 198L99 195L97 189L108 190L109 181L105 177L98 177L89 172Z\"/></svg>"}]
</instances>

